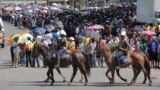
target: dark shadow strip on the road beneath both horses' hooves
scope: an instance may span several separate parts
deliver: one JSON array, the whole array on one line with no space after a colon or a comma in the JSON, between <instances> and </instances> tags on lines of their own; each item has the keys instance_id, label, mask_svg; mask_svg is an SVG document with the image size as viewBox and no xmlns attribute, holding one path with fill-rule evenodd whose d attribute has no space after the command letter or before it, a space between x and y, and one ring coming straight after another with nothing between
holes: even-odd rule
<instances>
[{"instance_id":1,"label":"dark shadow strip on the road beneath both horses' hooves","mask_svg":"<svg viewBox=\"0 0 160 90\"><path fill-rule=\"evenodd\" d=\"M51 86L50 82L45 83L43 81L27 81L27 82L10 82L9 86L39 86L39 87L48 87ZM56 81L56 83L53 84L53 86L68 86L68 83L63 83L62 81ZM82 87L84 86L83 83L78 83L78 82L73 82L71 83L71 86L76 86L76 87ZM114 85L111 85L106 82L92 82L88 83L89 87L130 87L128 86L127 83L115 83ZM133 86L138 86L138 87L147 87L147 84L141 84L141 83L136 83ZM70 87L70 86L68 86ZM159 84L155 84L151 87L160 87Z\"/></svg>"}]
</instances>

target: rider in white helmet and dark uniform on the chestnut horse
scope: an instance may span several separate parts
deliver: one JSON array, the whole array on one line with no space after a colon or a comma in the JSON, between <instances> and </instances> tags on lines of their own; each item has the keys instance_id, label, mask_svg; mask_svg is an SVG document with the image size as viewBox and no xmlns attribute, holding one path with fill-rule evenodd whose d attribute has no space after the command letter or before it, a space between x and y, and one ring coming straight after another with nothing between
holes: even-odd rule
<instances>
[{"instance_id":1,"label":"rider in white helmet and dark uniform on the chestnut horse","mask_svg":"<svg viewBox=\"0 0 160 90\"><path fill-rule=\"evenodd\" d=\"M124 59L128 59L127 51L130 49L129 41L126 37L126 31L121 31L121 41L119 44L119 49L115 55L115 68L120 69L120 63Z\"/></svg>"}]
</instances>

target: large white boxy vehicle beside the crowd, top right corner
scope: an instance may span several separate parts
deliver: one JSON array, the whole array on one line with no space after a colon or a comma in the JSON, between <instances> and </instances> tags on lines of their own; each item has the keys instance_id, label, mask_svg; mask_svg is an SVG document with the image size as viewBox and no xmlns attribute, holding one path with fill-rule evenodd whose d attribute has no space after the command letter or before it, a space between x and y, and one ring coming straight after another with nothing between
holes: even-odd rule
<instances>
[{"instance_id":1,"label":"large white boxy vehicle beside the crowd, top right corner","mask_svg":"<svg viewBox=\"0 0 160 90\"><path fill-rule=\"evenodd\" d=\"M142 23L160 22L160 0L137 0L137 21Z\"/></svg>"}]
</instances>

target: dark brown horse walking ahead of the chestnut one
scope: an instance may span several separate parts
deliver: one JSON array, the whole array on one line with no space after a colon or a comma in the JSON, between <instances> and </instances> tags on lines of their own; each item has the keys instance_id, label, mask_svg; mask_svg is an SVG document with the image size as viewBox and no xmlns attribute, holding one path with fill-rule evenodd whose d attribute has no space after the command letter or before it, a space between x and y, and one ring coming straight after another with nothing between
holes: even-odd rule
<instances>
[{"instance_id":1,"label":"dark brown horse walking ahead of the chestnut one","mask_svg":"<svg viewBox=\"0 0 160 90\"><path fill-rule=\"evenodd\" d=\"M53 69L55 68L54 66L58 61L58 57L55 53L56 51L51 51L49 47L39 44L36 45L36 51L41 53L44 60L46 61L48 65L47 76L49 79L51 79L51 85L53 85L53 83L55 83ZM79 69L85 78L84 85L86 86L88 83L87 75L90 76L90 64L88 56L85 53L82 53L80 50L72 50L71 53L69 53L69 57L65 58L65 60L61 60L60 62L61 67L67 67L68 65L73 66L73 74L68 85L71 85L70 83L73 82L77 70ZM58 69L60 72L59 68L56 69ZM62 75L61 72L59 74ZM64 76L62 77L64 78ZM49 80L48 78L46 81Z\"/></svg>"}]
</instances>

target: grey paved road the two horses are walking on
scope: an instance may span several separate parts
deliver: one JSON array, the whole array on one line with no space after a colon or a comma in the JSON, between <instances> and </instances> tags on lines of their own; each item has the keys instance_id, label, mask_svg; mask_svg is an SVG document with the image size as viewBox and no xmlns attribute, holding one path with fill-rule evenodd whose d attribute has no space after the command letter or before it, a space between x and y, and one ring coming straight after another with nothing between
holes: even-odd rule
<instances>
[{"instance_id":1,"label":"grey paved road the two horses are walking on","mask_svg":"<svg viewBox=\"0 0 160 90\"><path fill-rule=\"evenodd\" d=\"M8 24L5 24L6 36L13 33L20 33L23 30ZM109 85L109 80L105 77L106 68L93 68L91 70L91 77L89 78L88 86L83 86L83 83L78 83L80 78L79 72L74 79L72 86L67 86L67 83L62 83L62 78L55 72L55 80L57 83L54 86L50 86L50 83L44 83L46 78L47 68L11 68L11 57L9 53L9 46L0 48L0 90L159 90L160 88L160 70L152 70L151 76L153 80L153 86L147 86L147 84L141 84L143 75L137 79L134 86L127 86L116 76L116 84L114 86ZM63 68L63 74L69 81L72 68ZM132 78L131 68L122 69L121 74L126 77L128 81Z\"/></svg>"}]
</instances>

